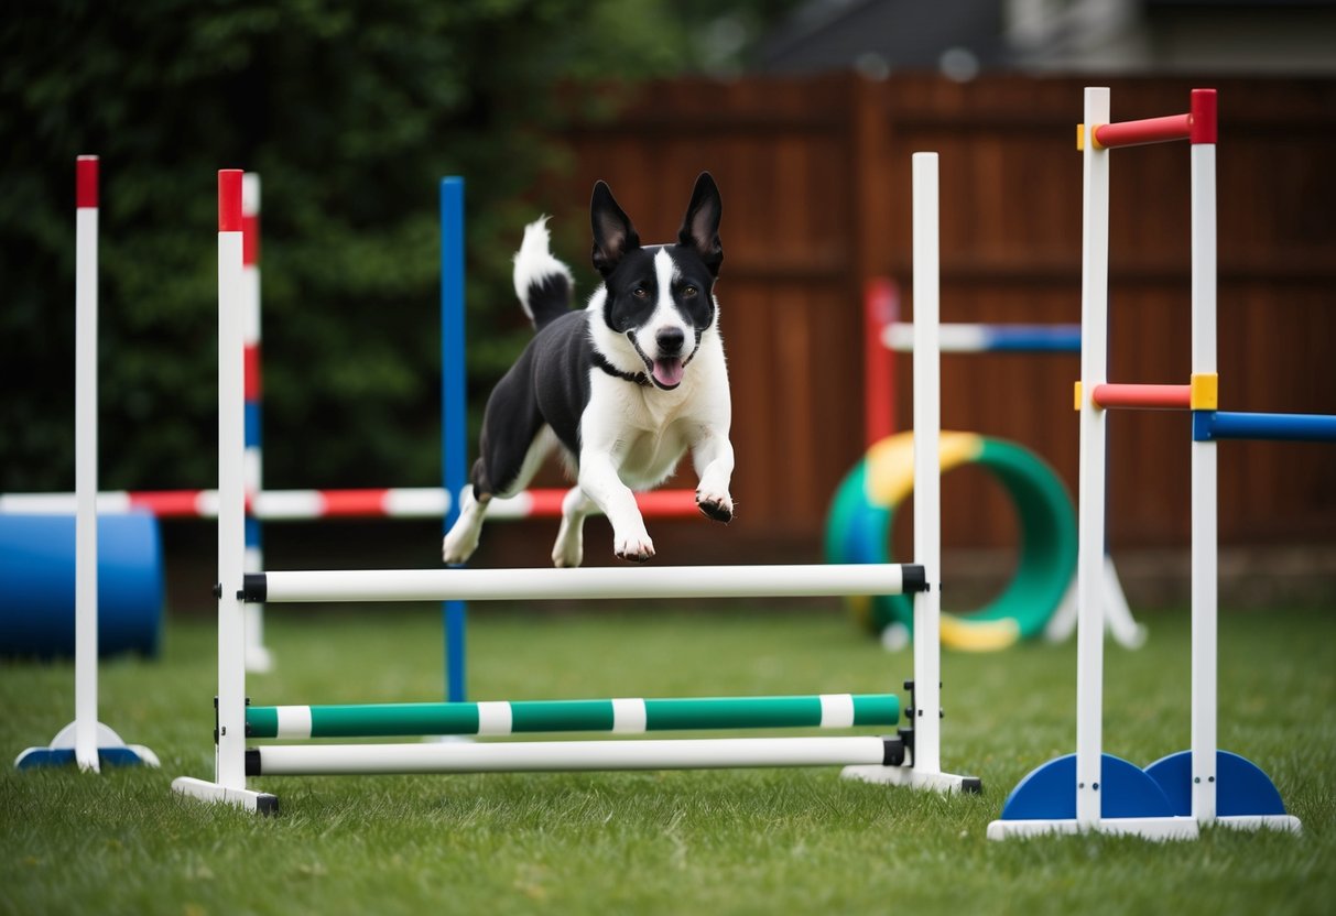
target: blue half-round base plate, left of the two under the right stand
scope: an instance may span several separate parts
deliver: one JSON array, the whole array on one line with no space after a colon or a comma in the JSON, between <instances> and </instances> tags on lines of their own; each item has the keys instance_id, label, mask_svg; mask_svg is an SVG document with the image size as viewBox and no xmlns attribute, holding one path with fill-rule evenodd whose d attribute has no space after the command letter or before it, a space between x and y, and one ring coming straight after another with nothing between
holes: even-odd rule
<instances>
[{"instance_id":1,"label":"blue half-round base plate, left of the two under the right stand","mask_svg":"<svg viewBox=\"0 0 1336 916\"><path fill-rule=\"evenodd\" d=\"M1050 760L1017 782L1002 805L1002 820L1075 820L1077 756ZM1121 757L1100 761L1101 817L1172 817L1169 798L1156 780Z\"/></svg>"}]
</instances>

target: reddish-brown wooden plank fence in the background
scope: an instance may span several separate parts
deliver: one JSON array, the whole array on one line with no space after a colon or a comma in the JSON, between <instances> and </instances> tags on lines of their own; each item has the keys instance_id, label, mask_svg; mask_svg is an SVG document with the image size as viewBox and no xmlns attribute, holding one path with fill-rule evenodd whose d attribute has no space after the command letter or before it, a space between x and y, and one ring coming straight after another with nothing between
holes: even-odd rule
<instances>
[{"instance_id":1,"label":"reddish-brown wooden plank fence in the background","mask_svg":"<svg viewBox=\"0 0 1336 916\"><path fill-rule=\"evenodd\" d=\"M660 551L665 539L677 545L675 562L701 558L691 545L705 559L819 550L831 494L864 445L864 283L892 278L912 314L914 151L941 154L943 320L1079 320L1074 138L1088 84L1112 87L1116 120L1182 112L1194 85L1220 89L1221 403L1336 413L1336 170L1325 162L1336 81L838 75L655 84L624 93L616 116L569 130L570 168L538 196L568 202L554 227L582 256L596 179L611 183L647 243L673 238L699 171L723 191L717 292L739 513L727 537L659 525ZM1114 154L1112 381L1188 381L1188 170L1182 144ZM908 361L896 375L908 422ZM1029 446L1074 493L1077 375L1074 357L945 357L943 425ZM1182 414L1112 421L1114 546L1186 543L1188 442ZM1221 542L1336 543L1333 478L1333 447L1221 446ZM695 485L687 465L679 481ZM1014 543L1013 513L982 473L953 471L943 499L947 546Z\"/></svg>"}]
</instances>

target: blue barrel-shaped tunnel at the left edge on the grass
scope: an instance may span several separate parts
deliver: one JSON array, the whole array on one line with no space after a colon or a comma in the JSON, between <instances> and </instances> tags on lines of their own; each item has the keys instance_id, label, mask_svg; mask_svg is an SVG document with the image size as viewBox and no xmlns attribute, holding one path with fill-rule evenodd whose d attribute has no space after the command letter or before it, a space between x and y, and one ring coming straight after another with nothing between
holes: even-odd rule
<instances>
[{"instance_id":1,"label":"blue barrel-shaped tunnel at the left edge on the grass","mask_svg":"<svg viewBox=\"0 0 1336 916\"><path fill-rule=\"evenodd\" d=\"M0 654L75 654L75 519L0 514ZM98 519L98 656L156 656L163 626L158 519Z\"/></svg>"}]
</instances>

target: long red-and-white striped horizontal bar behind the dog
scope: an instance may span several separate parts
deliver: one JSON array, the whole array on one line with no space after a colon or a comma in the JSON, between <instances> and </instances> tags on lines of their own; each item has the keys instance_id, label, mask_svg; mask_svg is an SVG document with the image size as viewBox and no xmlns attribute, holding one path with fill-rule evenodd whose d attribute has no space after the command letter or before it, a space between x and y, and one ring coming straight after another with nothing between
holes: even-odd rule
<instances>
[{"instance_id":1,"label":"long red-and-white striped horizontal bar behind the dog","mask_svg":"<svg viewBox=\"0 0 1336 916\"><path fill-rule=\"evenodd\" d=\"M506 499L493 499L489 518L557 518L566 490L525 490ZM696 518L693 490L637 493L636 503L647 518ZM450 507L445 490L424 487L371 487L357 490L265 490L248 502L254 518L266 522L317 518L444 518ZM0 513L68 514L75 510L72 493L4 493ZM98 511L114 514L146 511L158 518L216 518L218 490L111 490L98 494Z\"/></svg>"}]
</instances>

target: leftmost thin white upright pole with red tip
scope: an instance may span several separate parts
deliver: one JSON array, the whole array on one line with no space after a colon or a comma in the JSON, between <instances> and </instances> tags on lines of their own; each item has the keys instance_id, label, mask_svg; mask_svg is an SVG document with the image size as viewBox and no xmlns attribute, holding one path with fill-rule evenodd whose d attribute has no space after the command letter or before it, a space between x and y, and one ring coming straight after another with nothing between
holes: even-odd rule
<instances>
[{"instance_id":1,"label":"leftmost thin white upright pole with red tip","mask_svg":"<svg viewBox=\"0 0 1336 916\"><path fill-rule=\"evenodd\" d=\"M75 170L75 761L96 772L98 156Z\"/></svg>"}]
</instances>

